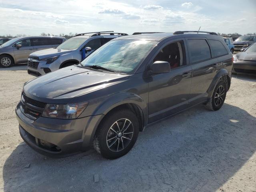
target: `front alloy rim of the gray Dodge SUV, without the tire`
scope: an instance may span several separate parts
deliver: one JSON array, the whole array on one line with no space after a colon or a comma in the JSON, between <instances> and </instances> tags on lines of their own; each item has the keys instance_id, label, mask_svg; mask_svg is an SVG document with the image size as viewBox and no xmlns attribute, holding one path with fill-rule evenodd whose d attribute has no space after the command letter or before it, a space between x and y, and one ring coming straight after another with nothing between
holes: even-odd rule
<instances>
[{"instance_id":1,"label":"front alloy rim of the gray Dodge SUV, without the tire","mask_svg":"<svg viewBox=\"0 0 256 192\"><path fill-rule=\"evenodd\" d=\"M119 119L108 130L106 142L108 149L113 152L124 150L132 140L134 128L130 120Z\"/></svg>"}]
</instances>

